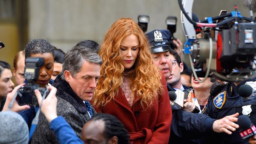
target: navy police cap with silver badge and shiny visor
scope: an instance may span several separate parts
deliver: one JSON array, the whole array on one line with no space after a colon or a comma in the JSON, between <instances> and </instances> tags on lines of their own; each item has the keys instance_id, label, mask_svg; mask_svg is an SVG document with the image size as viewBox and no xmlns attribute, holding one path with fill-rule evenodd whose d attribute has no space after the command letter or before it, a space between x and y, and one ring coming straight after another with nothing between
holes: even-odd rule
<instances>
[{"instance_id":1,"label":"navy police cap with silver badge and shiny visor","mask_svg":"<svg viewBox=\"0 0 256 144\"><path fill-rule=\"evenodd\" d=\"M146 33L148 38L151 52L167 52L171 50L169 41L171 41L172 34L169 30L153 30Z\"/></svg>"}]
</instances>

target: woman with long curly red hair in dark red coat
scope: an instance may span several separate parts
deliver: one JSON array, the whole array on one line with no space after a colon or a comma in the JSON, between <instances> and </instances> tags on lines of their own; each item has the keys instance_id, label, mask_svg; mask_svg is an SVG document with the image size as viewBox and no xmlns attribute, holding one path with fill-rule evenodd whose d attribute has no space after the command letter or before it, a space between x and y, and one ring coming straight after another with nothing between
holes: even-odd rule
<instances>
[{"instance_id":1,"label":"woman with long curly red hair in dark red coat","mask_svg":"<svg viewBox=\"0 0 256 144\"><path fill-rule=\"evenodd\" d=\"M103 64L93 102L121 120L133 144L166 144L172 120L163 75L153 65L147 38L131 18L117 20L99 52Z\"/></svg>"}]
</instances>

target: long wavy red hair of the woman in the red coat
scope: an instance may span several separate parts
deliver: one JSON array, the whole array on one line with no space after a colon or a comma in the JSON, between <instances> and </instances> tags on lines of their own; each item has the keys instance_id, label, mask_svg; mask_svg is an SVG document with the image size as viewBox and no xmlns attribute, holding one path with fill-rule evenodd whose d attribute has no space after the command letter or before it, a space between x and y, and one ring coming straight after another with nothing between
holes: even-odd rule
<instances>
[{"instance_id":1,"label":"long wavy red hair of the woman in the red coat","mask_svg":"<svg viewBox=\"0 0 256 144\"><path fill-rule=\"evenodd\" d=\"M140 99L143 109L152 105L162 94L161 74L151 60L149 44L145 34L131 18L117 20L106 33L99 55L103 64L100 68L100 78L95 89L93 102L96 107L102 107L113 100L123 82L124 66L120 43L128 35L139 39L139 54L132 68L125 72L131 79L131 90L134 100Z\"/></svg>"}]
</instances>

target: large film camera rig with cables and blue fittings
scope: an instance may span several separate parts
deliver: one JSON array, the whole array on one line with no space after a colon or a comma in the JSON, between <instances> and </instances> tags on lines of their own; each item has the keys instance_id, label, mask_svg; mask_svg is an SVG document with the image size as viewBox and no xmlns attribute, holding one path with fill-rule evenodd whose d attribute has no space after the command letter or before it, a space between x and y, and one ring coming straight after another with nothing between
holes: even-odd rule
<instances>
[{"instance_id":1,"label":"large film camera rig with cables and blue fittings","mask_svg":"<svg viewBox=\"0 0 256 144\"><path fill-rule=\"evenodd\" d=\"M252 19L252 12L251 18L242 17L235 6L235 11L231 13L195 22L191 19L193 0L178 0L178 3L182 10L182 27L187 37L184 54L189 55L196 78L193 65L199 64L202 64L202 70L206 72L205 76L199 77L213 76L223 81L236 82L256 76L256 23ZM204 29L201 39L197 39L193 26ZM211 37L212 33L215 37Z\"/></svg>"}]
</instances>

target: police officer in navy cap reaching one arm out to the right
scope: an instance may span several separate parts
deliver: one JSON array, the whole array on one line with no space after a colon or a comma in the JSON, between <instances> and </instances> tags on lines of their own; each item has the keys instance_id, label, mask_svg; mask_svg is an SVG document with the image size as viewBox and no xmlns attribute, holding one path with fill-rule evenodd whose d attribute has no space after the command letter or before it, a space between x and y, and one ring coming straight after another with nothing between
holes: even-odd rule
<instances>
[{"instance_id":1,"label":"police officer in navy cap reaching one arm out to the right","mask_svg":"<svg viewBox=\"0 0 256 144\"><path fill-rule=\"evenodd\" d=\"M151 52L154 54L152 61L165 75L169 78L171 74L171 66L173 65L170 58L170 44L171 33L169 30L153 30L146 34L150 43ZM156 63L157 59L161 59ZM171 102L173 103L173 102ZM197 139L207 134L214 132L235 131L238 128L237 121L238 114L226 116L221 120L212 119L205 114L189 113L180 109L175 104L172 106L173 120L171 124L171 136L169 143L179 142L180 144L196 143ZM226 127L224 127L224 125ZM229 126L229 127L227 127ZM230 131L229 131L230 130Z\"/></svg>"}]
</instances>

